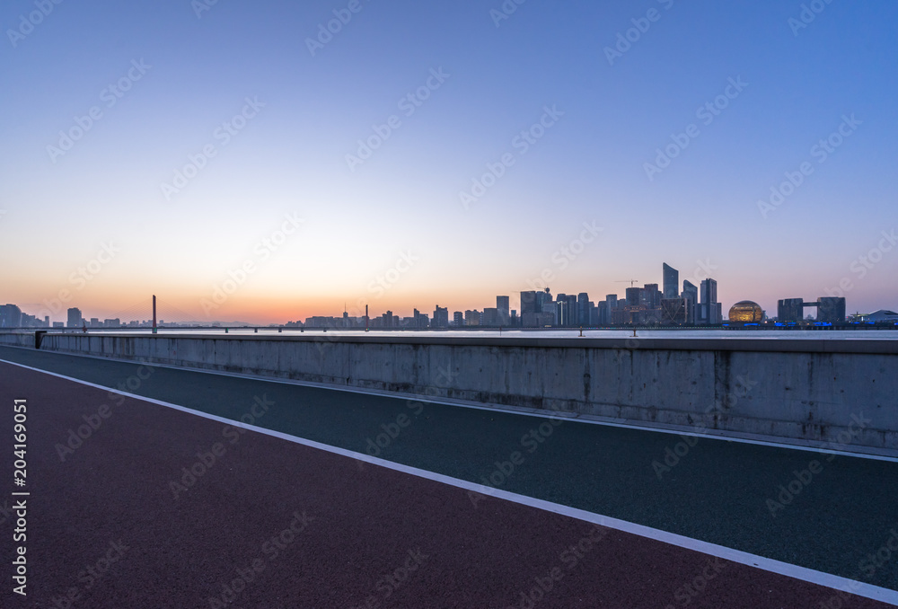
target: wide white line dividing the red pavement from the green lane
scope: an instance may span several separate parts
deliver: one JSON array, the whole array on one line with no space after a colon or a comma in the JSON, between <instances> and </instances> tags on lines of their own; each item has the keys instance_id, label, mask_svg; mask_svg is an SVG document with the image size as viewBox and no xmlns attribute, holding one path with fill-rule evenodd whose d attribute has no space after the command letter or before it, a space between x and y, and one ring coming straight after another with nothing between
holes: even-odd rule
<instances>
[{"instance_id":1,"label":"wide white line dividing the red pavement from the green lane","mask_svg":"<svg viewBox=\"0 0 898 609\"><path fill-rule=\"evenodd\" d=\"M379 459L377 457L373 457L371 455L365 455L364 453L356 453L351 450L347 450L345 448L339 448L337 446L330 446L326 444L321 444L321 442L315 442L313 440L307 440L303 437L291 436L289 434L285 434L280 431L275 431L273 429L260 428L255 425L247 425L239 420L227 419L225 417L219 417L214 414L209 414L207 412L202 412L200 410L193 410L190 408L186 408L184 406L179 406L178 404L172 404L171 402L163 402L161 400L154 400L153 398L146 398L140 395L136 395L134 393L128 393L119 391L118 389L112 389L110 387L106 387L101 384L89 383L87 381L83 381L81 379L72 378L71 376L59 375L55 372L48 372L46 370L40 370L40 368L34 368L31 366L24 366L22 364L17 364L15 362L6 361L4 359L0 359L0 362L5 364L11 364L13 366L20 366L22 368L26 368L28 370L33 370L35 372L40 372L45 375L56 376L57 378L65 379L66 381L72 381L78 384L84 384L89 387L95 387L97 389L101 389L104 391L109 391L111 393L119 393L120 395L128 396L129 398L133 398L135 400L141 402L149 402L153 404L157 404L159 406L164 406L165 408L171 408L172 410L180 410L181 412L187 412L192 415L196 415L198 417L202 417L203 419L211 419L218 421L220 423L225 423L227 425L231 425L233 427L240 427L247 429L249 431L255 431L260 434L264 434L266 436L277 437L282 440L286 440L288 442L293 442L295 444L309 446L311 448L317 448L319 450L332 453L334 455L342 455L345 457L349 457L351 459L355 459L357 461L362 461L365 463L371 463L374 465L379 465L381 467L385 467L387 469L408 473L413 476L417 476L418 478L423 478L426 480L442 482L444 484L448 484L453 487L457 487L459 489L471 490L476 493L480 493L481 495L488 495L490 497L495 497L497 499L505 499L506 501L512 501L514 503L535 507L537 509L541 509L547 512L551 512L553 514L559 514L560 516L570 516L572 518L577 518L578 520L583 520L585 522L594 523L596 525L606 526L608 528L612 528L618 531L622 531L624 533L635 534L640 537L645 537L647 539L652 539L662 543L670 543L672 545L685 548L687 550L692 550L694 552L701 552L703 554L708 554L710 556L716 556L718 558L722 558L724 560L731 560L733 562L738 562L740 564L747 565L749 567L755 567L757 569L762 569L765 571L769 571L770 573L776 573L779 575L784 575L788 578L795 578L801 581L806 581L812 584L816 584L818 586L830 587L836 590L841 590L842 592L846 592L849 594L864 596L866 598L871 598L876 601L881 601L884 603L891 603L892 605L898 605L898 591L890 590L884 587L871 586L870 584L865 584L863 582L859 582L854 579L842 578L836 575L832 575L829 573L823 573L823 571L817 571L814 569L807 569L805 567L799 567L797 565L789 564L788 562L782 562L780 560L773 560L769 558L765 558L763 556L758 556L756 554L750 554L748 552L742 552L739 550L734 550L733 548L727 548L723 545L718 545L717 543L709 543L702 542L698 539L693 539L691 537L686 537L684 535L678 535L674 533L668 533L667 531L662 531L660 529L652 528L650 526L637 525L636 523L631 523L626 520L621 520L619 518L612 518L610 516L602 516L601 514L594 514L593 512L587 512L583 509L577 509L576 507L568 507L562 506L558 503L552 503L550 501L544 501L543 499L534 499L533 497L526 497L525 495L518 495L516 493L508 492L507 490L499 490L494 489L492 487L484 486L482 484L477 484L475 482L469 482L460 480L458 478L452 478L450 476L445 476L442 473L428 472L427 470L421 470L417 467L411 467L409 465L403 465L401 463L393 463L392 461L386 461L384 459Z\"/></svg>"}]
</instances>

